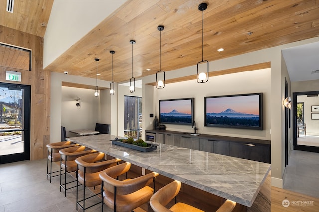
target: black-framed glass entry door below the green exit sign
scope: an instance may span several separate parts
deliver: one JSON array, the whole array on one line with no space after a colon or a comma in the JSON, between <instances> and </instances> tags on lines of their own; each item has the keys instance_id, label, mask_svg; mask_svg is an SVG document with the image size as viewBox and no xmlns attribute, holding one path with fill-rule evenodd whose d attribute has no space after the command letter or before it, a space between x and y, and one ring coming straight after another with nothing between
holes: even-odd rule
<instances>
[{"instance_id":1,"label":"black-framed glass entry door below the green exit sign","mask_svg":"<svg viewBox=\"0 0 319 212\"><path fill-rule=\"evenodd\" d=\"M31 87L0 83L0 164L30 159Z\"/></svg>"}]
</instances>

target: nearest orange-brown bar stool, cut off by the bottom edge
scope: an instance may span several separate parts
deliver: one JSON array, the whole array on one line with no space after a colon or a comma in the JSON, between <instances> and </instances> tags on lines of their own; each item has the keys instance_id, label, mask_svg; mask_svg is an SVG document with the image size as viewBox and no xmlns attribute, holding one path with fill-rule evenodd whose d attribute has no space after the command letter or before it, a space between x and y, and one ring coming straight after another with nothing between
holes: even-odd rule
<instances>
[{"instance_id":1,"label":"nearest orange-brown bar stool, cut off by the bottom edge","mask_svg":"<svg viewBox=\"0 0 319 212\"><path fill-rule=\"evenodd\" d=\"M154 212L204 212L193 206L185 203L177 203L176 196L178 195L181 187L181 182L175 180L157 191L150 199L151 208ZM175 198L175 205L170 209L165 206ZM216 212L231 212L236 206L236 202L226 200Z\"/></svg>"}]
</instances>

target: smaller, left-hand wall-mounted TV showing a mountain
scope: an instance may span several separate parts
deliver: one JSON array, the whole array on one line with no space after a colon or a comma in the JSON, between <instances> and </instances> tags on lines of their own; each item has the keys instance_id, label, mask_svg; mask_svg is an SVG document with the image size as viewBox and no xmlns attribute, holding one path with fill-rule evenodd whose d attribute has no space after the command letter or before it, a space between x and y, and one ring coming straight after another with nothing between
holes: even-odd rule
<instances>
[{"instance_id":1,"label":"smaller, left-hand wall-mounted TV showing a mountain","mask_svg":"<svg viewBox=\"0 0 319 212\"><path fill-rule=\"evenodd\" d=\"M160 123L192 125L194 98L160 100Z\"/></svg>"}]
</instances>

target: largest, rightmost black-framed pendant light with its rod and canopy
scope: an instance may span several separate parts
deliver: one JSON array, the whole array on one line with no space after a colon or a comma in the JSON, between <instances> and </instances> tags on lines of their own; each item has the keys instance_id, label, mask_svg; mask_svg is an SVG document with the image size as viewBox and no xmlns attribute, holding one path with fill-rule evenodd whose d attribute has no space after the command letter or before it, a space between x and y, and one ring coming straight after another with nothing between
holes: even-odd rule
<instances>
[{"instance_id":1,"label":"largest, rightmost black-framed pendant light with its rod and canopy","mask_svg":"<svg viewBox=\"0 0 319 212\"><path fill-rule=\"evenodd\" d=\"M208 82L208 61L204 60L204 10L207 9L207 3L201 3L198 6L198 10L203 12L202 19L202 60L197 63L197 82ZM206 65L207 64L207 68ZM199 73L198 73L199 72Z\"/></svg>"}]
</instances>

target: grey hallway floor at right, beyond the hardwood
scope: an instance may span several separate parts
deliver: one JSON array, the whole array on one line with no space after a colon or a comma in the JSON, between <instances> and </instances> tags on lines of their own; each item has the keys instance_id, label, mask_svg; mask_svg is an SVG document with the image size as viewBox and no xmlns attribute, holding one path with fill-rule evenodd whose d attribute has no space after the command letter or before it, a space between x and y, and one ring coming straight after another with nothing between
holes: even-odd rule
<instances>
[{"instance_id":1,"label":"grey hallway floor at right, beyond the hardwood","mask_svg":"<svg viewBox=\"0 0 319 212\"><path fill-rule=\"evenodd\" d=\"M283 188L319 198L319 153L293 150L288 163Z\"/></svg>"}]
</instances>

